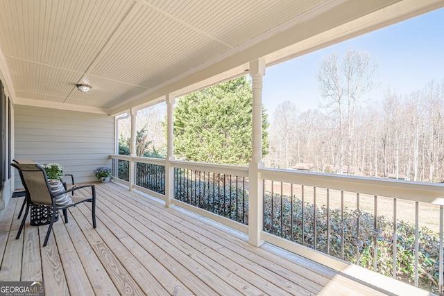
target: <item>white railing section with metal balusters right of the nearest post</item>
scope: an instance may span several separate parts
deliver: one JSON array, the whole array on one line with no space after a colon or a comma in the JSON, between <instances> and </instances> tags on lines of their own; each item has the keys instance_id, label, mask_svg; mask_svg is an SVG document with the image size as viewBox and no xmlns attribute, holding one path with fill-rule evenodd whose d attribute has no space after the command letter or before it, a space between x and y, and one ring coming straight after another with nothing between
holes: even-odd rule
<instances>
[{"instance_id":1,"label":"white railing section with metal balusters right of the nearest post","mask_svg":"<svg viewBox=\"0 0 444 296\"><path fill-rule=\"evenodd\" d=\"M259 172L264 240L337 270L351 262L442 294L443 184L268 168ZM433 250L420 252L426 245ZM383 265L387 253L391 264Z\"/></svg>"}]
</instances>

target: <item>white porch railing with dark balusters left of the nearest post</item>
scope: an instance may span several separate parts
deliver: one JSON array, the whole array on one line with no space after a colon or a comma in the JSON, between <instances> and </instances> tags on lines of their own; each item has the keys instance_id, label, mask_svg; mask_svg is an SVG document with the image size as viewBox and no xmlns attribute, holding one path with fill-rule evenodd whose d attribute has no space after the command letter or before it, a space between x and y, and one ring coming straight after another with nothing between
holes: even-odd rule
<instances>
[{"instance_id":1,"label":"white porch railing with dark balusters left of the nearest post","mask_svg":"<svg viewBox=\"0 0 444 296\"><path fill-rule=\"evenodd\" d=\"M114 162L114 180L165 202L166 190L158 190L162 186L148 186L148 183L153 182L140 182L146 179L146 175L141 176L140 173L146 171L144 165L162 167L162 182L164 189L167 189L167 166L173 167L173 184L170 190L172 194L169 196L171 204L177 204L240 232L248 232L248 167L180 160L167 162L165 159L126 155L110 157ZM122 163L124 165L121 165Z\"/></svg>"}]
</instances>

